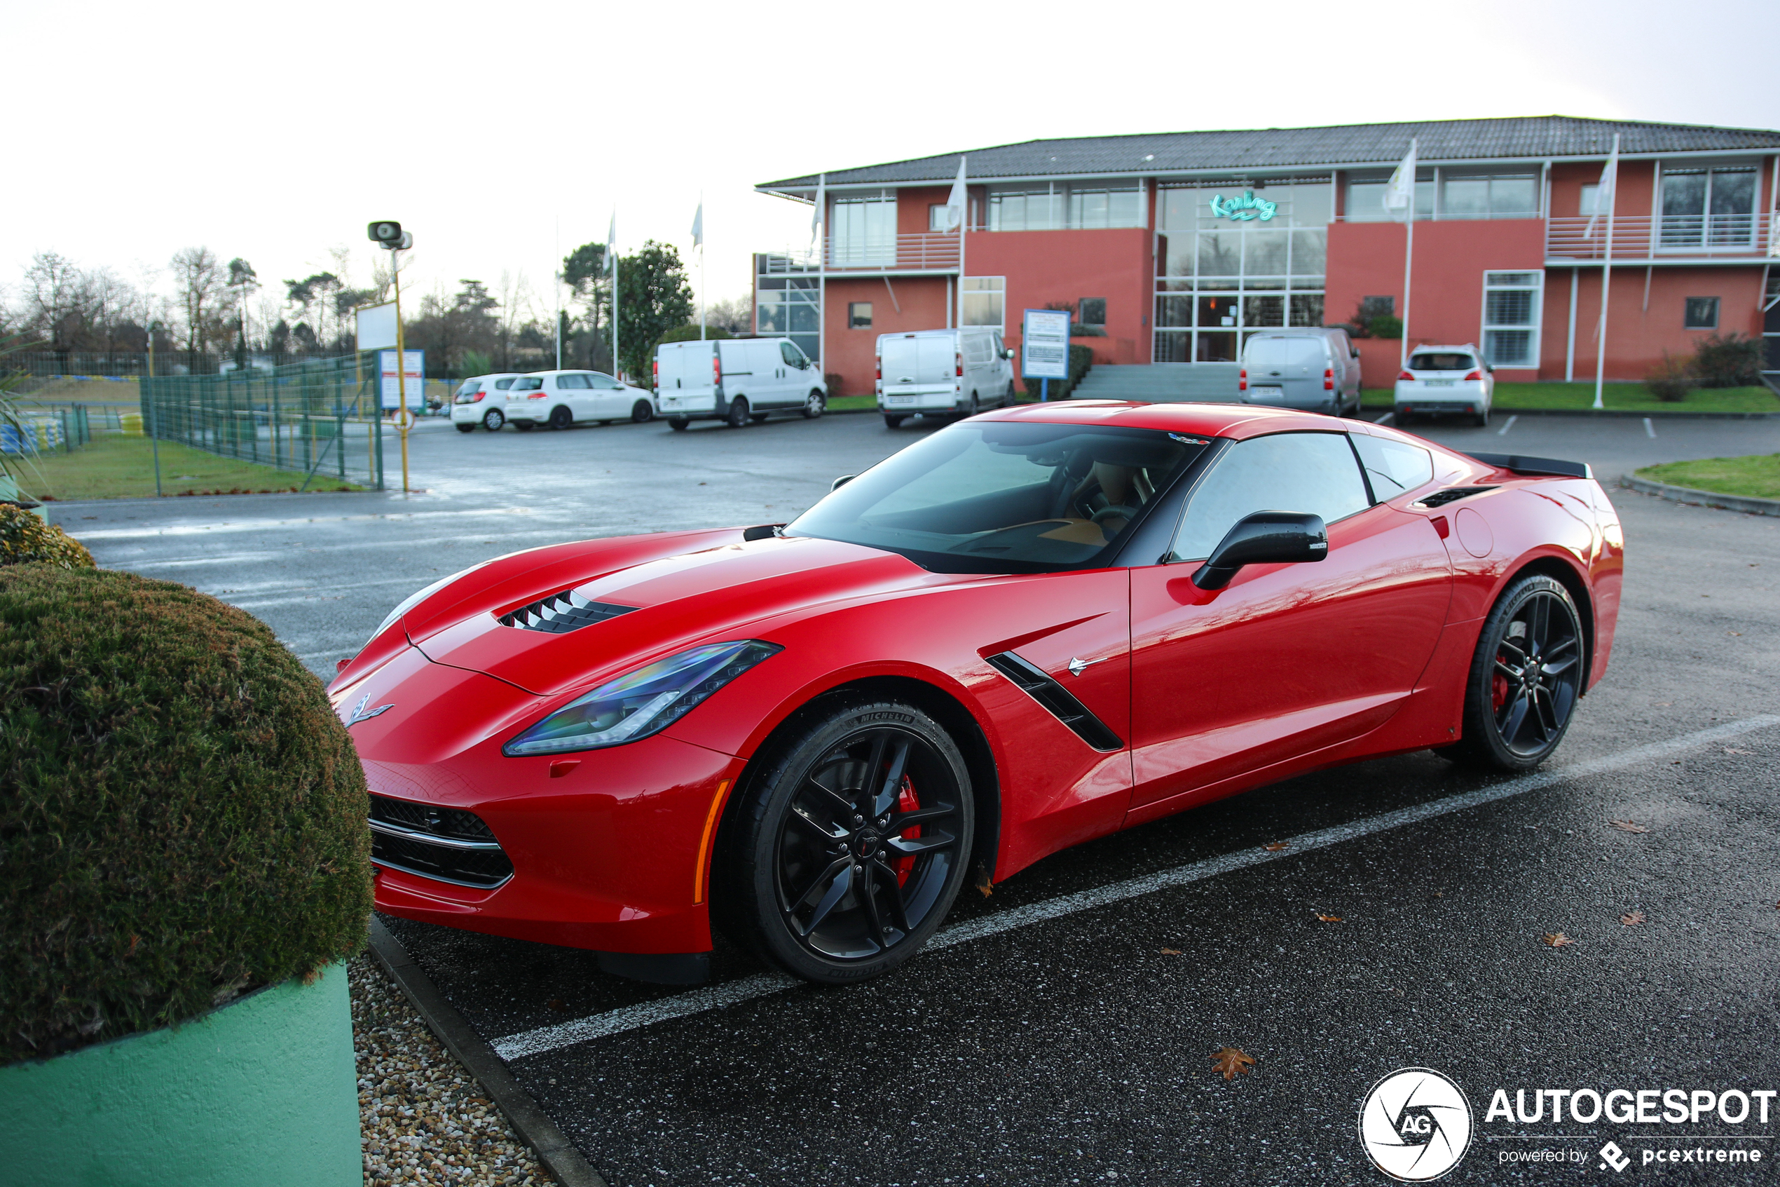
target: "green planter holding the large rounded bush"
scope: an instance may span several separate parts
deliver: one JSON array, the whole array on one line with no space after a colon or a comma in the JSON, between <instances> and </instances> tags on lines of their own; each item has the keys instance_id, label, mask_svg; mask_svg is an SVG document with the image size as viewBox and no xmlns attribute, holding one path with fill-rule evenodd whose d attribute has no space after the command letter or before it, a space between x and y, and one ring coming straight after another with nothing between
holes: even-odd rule
<instances>
[{"instance_id":1,"label":"green planter holding the large rounded bush","mask_svg":"<svg viewBox=\"0 0 1780 1187\"><path fill-rule=\"evenodd\" d=\"M0 1068L11 1187L360 1187L345 965L178 1027Z\"/></svg>"}]
</instances>

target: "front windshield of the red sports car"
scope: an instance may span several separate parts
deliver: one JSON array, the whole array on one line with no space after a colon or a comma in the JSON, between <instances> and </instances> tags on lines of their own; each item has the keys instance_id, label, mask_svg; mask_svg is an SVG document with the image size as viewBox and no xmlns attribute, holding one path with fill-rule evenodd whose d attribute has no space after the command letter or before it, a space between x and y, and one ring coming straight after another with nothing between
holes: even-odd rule
<instances>
[{"instance_id":1,"label":"front windshield of the red sports car","mask_svg":"<svg viewBox=\"0 0 1780 1187\"><path fill-rule=\"evenodd\" d=\"M967 422L910 445L785 527L936 573L1095 568L1207 441L1157 429Z\"/></svg>"}]
</instances>

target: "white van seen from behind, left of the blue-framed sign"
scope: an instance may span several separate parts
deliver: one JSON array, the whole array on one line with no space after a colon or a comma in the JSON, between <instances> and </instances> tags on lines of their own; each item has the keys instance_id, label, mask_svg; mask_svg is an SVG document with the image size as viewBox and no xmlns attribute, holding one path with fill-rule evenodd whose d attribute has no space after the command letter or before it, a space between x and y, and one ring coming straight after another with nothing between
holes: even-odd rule
<instances>
[{"instance_id":1,"label":"white van seen from behind, left of the blue-framed sign","mask_svg":"<svg viewBox=\"0 0 1780 1187\"><path fill-rule=\"evenodd\" d=\"M878 411L895 429L910 416L974 416L1013 404L1013 351L990 326L878 335Z\"/></svg>"}]
</instances>

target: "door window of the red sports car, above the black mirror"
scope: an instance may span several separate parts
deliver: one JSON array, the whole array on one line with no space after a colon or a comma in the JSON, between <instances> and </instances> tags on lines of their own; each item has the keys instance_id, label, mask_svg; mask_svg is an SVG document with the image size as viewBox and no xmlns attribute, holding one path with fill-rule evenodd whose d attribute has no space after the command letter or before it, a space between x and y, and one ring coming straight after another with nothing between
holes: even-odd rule
<instances>
[{"instance_id":1,"label":"door window of the red sports car, above the black mirror","mask_svg":"<svg viewBox=\"0 0 1780 1187\"><path fill-rule=\"evenodd\" d=\"M1242 516L1298 511L1344 520L1369 505L1346 432L1280 432L1237 441L1212 468L1175 537L1173 557L1212 555Z\"/></svg>"}]
</instances>

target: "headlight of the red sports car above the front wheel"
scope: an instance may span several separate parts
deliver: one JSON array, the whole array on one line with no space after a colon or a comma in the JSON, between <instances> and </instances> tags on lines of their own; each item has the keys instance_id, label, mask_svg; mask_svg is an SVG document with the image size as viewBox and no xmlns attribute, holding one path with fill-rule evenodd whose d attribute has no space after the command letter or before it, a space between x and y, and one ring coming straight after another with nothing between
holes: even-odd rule
<instances>
[{"instance_id":1,"label":"headlight of the red sports car above the front wheel","mask_svg":"<svg viewBox=\"0 0 1780 1187\"><path fill-rule=\"evenodd\" d=\"M710 642L602 683L500 747L507 758L623 746L666 730L744 671L783 651L776 642Z\"/></svg>"}]
</instances>

